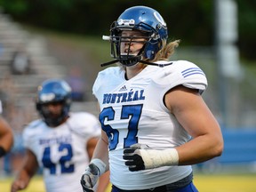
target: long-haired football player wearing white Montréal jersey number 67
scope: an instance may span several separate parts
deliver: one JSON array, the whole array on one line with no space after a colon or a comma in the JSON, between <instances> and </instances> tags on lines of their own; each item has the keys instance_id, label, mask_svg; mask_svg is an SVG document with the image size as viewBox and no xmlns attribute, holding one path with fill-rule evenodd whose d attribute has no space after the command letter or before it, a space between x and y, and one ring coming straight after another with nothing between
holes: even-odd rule
<instances>
[{"instance_id":1,"label":"long-haired football player wearing white Montr\u00e9al jersey number 67","mask_svg":"<svg viewBox=\"0 0 256 192\"><path fill-rule=\"evenodd\" d=\"M100 71L93 84L102 131L81 178L84 191L108 169L112 192L197 191L191 164L223 149L220 125L201 96L204 72L169 60L179 41L167 43L166 23L150 7L125 10L103 38L115 60L102 66L119 66Z\"/></svg>"}]
</instances>

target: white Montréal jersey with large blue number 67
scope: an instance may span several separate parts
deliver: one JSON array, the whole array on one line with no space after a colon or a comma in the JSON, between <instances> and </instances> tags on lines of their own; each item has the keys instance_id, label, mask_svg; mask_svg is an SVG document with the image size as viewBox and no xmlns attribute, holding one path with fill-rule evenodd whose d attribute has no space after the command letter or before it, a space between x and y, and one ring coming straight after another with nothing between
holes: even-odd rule
<instances>
[{"instance_id":1,"label":"white Montr\u00e9al jersey with large blue number 67","mask_svg":"<svg viewBox=\"0 0 256 192\"><path fill-rule=\"evenodd\" d=\"M97 76L92 91L100 104L101 127L108 135L110 181L117 188L154 188L192 172L190 165L130 172L123 159L124 148L135 143L164 149L191 139L163 102L164 94L179 84L202 93L207 80L200 68L186 60L172 61L164 68L147 66L129 80L119 67L106 68Z\"/></svg>"}]
</instances>

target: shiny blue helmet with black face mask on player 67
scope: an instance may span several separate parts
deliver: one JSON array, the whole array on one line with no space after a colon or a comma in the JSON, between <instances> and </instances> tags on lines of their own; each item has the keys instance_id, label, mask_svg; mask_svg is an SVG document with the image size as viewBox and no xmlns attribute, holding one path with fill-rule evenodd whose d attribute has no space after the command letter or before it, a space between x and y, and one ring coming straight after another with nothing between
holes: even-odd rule
<instances>
[{"instance_id":1,"label":"shiny blue helmet with black face mask on player 67","mask_svg":"<svg viewBox=\"0 0 256 192\"><path fill-rule=\"evenodd\" d=\"M145 34L143 38L146 41L138 55L130 55L129 52L121 54L120 44L127 42L127 36L122 36L123 30L139 30ZM136 42L136 37L129 38L130 44ZM142 59L154 60L156 53L163 47L163 41L167 41L167 38L167 26L159 12L147 6L133 6L126 9L111 25L109 36L111 56L128 67Z\"/></svg>"}]
</instances>

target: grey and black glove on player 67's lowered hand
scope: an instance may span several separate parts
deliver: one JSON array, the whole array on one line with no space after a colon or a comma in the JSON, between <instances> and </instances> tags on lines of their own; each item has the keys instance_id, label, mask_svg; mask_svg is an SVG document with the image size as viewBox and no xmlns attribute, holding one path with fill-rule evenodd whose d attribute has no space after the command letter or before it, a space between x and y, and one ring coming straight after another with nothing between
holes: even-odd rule
<instances>
[{"instance_id":1,"label":"grey and black glove on player 67's lowered hand","mask_svg":"<svg viewBox=\"0 0 256 192\"><path fill-rule=\"evenodd\" d=\"M93 192L100 177L100 170L95 164L89 164L80 180L84 192Z\"/></svg>"}]
</instances>

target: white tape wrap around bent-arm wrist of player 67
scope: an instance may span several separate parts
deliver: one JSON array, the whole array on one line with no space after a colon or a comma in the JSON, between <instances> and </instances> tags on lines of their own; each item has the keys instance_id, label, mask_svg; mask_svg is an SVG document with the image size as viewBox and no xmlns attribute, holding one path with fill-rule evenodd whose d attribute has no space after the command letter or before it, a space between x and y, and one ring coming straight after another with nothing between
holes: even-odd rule
<instances>
[{"instance_id":1,"label":"white tape wrap around bent-arm wrist of player 67","mask_svg":"<svg viewBox=\"0 0 256 192\"><path fill-rule=\"evenodd\" d=\"M179 154L175 148L164 150L140 149L140 154L146 169L179 164Z\"/></svg>"}]
</instances>

